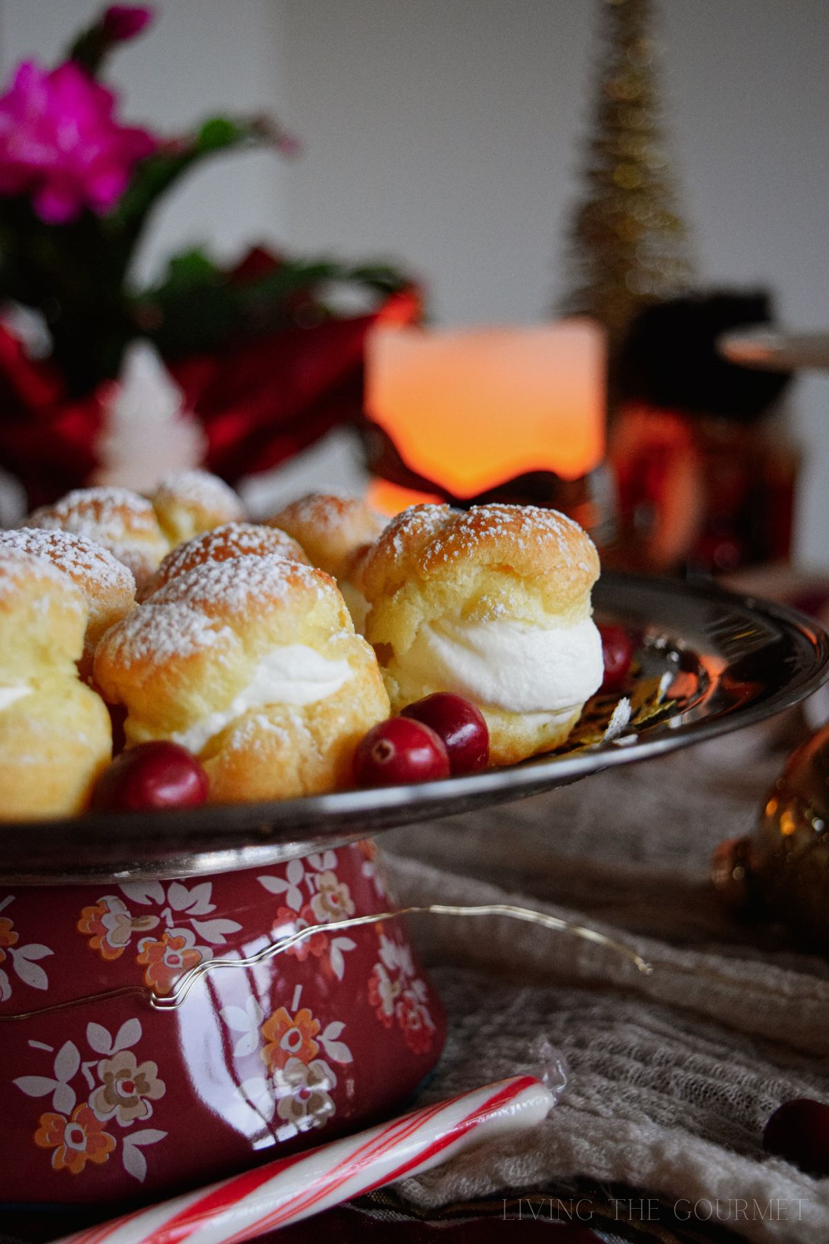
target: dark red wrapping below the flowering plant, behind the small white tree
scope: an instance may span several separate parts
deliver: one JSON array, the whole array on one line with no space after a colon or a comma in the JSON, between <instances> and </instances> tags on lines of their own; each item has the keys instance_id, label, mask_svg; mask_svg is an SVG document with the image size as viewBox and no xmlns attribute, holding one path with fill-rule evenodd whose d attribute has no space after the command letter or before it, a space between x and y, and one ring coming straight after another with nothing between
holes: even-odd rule
<instances>
[{"instance_id":1,"label":"dark red wrapping below the flowering plant, behind the small white tree","mask_svg":"<svg viewBox=\"0 0 829 1244\"><path fill-rule=\"evenodd\" d=\"M275 261L271 260L271 264ZM267 470L313 444L363 406L363 346L378 320L418 316L414 290L375 312L317 318L261 336L237 337L168 366L208 438L206 466L230 483ZM99 386L70 399L48 363L27 358L0 323L0 465L24 484L30 508L86 484L98 465L103 427Z\"/></svg>"}]
</instances>

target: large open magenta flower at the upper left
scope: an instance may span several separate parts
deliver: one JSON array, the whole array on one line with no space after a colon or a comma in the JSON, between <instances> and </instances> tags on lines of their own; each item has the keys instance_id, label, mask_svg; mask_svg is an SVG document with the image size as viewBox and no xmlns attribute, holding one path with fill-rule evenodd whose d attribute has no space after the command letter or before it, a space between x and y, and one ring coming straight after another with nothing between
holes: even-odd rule
<instances>
[{"instance_id":1,"label":"large open magenta flower at the upper left","mask_svg":"<svg viewBox=\"0 0 829 1244\"><path fill-rule=\"evenodd\" d=\"M47 224L118 202L137 160L155 151L144 129L119 126L116 97L73 61L46 72L24 62L0 98L0 194L30 193Z\"/></svg>"}]
</instances>

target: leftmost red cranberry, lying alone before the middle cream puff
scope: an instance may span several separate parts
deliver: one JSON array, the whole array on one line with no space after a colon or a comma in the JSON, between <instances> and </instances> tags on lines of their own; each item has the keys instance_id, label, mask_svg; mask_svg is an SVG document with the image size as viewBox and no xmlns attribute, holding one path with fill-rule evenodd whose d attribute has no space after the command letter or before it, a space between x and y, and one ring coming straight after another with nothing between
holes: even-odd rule
<instances>
[{"instance_id":1,"label":"leftmost red cranberry, lying alone before the middle cream puff","mask_svg":"<svg viewBox=\"0 0 829 1244\"><path fill-rule=\"evenodd\" d=\"M208 797L208 775L178 743L139 743L112 761L96 786L99 812L140 812L152 807L198 807Z\"/></svg>"}]
</instances>

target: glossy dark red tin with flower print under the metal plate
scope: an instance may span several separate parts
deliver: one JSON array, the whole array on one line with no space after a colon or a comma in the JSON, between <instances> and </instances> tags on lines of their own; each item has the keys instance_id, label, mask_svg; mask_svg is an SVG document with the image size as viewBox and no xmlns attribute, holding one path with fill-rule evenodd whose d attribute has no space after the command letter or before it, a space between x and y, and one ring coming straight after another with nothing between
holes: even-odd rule
<instances>
[{"instance_id":1,"label":"glossy dark red tin with flower print under the metal plate","mask_svg":"<svg viewBox=\"0 0 829 1244\"><path fill-rule=\"evenodd\" d=\"M393 1110L439 1057L440 1003L399 919L328 928L389 903L372 842L0 889L0 1203L153 1198Z\"/></svg>"}]
</instances>

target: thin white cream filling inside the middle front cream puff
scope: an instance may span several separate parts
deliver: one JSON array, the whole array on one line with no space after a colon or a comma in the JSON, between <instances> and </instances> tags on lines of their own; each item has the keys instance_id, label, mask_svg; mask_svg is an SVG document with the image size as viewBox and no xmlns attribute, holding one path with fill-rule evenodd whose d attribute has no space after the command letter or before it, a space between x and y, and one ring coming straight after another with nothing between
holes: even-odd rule
<instances>
[{"instance_id":1,"label":"thin white cream filling inside the middle front cream puff","mask_svg":"<svg viewBox=\"0 0 829 1244\"><path fill-rule=\"evenodd\" d=\"M260 661L250 683L227 708L209 713L170 738L198 755L214 734L249 709L271 704L314 704L338 692L350 677L347 661L329 661L305 643L271 648Z\"/></svg>"}]
</instances>

